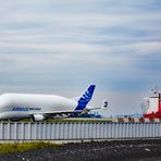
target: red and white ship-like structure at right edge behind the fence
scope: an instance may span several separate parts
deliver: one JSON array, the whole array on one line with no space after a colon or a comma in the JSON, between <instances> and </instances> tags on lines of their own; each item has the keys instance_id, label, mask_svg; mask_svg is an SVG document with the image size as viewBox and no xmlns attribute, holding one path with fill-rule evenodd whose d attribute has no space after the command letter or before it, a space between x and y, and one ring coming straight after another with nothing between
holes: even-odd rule
<instances>
[{"instance_id":1,"label":"red and white ship-like structure at right edge behind the fence","mask_svg":"<svg viewBox=\"0 0 161 161\"><path fill-rule=\"evenodd\" d=\"M161 92L158 88L151 89L151 94L147 100L147 111L145 119L161 119Z\"/></svg>"}]
</instances>

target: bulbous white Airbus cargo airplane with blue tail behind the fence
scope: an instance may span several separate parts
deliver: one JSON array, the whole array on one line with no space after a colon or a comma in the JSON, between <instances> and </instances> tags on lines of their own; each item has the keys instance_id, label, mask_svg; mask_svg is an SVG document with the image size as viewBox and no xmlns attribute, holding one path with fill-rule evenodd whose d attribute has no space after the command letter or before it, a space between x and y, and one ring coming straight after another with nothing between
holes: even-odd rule
<instances>
[{"instance_id":1,"label":"bulbous white Airbus cargo airplane with blue tail behind the fence","mask_svg":"<svg viewBox=\"0 0 161 161\"><path fill-rule=\"evenodd\" d=\"M102 109L87 106L95 87L90 85L81 97L73 99L57 95L3 94L0 96L0 120L18 121L29 117L32 121L44 121Z\"/></svg>"}]
</instances>

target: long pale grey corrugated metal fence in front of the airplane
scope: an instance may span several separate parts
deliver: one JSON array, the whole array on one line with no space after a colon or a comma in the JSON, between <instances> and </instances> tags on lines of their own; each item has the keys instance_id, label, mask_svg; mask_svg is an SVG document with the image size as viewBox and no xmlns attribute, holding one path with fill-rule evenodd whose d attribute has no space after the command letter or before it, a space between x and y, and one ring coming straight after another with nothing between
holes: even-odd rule
<instances>
[{"instance_id":1,"label":"long pale grey corrugated metal fence in front of the airplane","mask_svg":"<svg viewBox=\"0 0 161 161\"><path fill-rule=\"evenodd\" d=\"M161 137L161 123L0 123L0 140L131 139L159 137Z\"/></svg>"}]
</instances>

